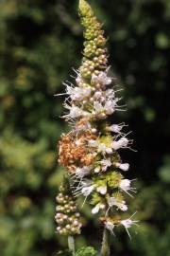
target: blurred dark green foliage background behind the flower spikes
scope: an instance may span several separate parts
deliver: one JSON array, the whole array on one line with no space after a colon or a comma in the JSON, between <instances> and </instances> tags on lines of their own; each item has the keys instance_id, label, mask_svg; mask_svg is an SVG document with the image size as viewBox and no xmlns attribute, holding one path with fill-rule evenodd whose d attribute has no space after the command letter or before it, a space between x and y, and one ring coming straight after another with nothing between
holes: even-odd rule
<instances>
[{"instance_id":1,"label":"blurred dark green foliage background behind the flower spikes","mask_svg":"<svg viewBox=\"0 0 170 256\"><path fill-rule=\"evenodd\" d=\"M170 1L92 0L109 36L110 64L121 78L126 121L138 153L124 152L137 177L131 200L140 228L111 238L112 255L170 256ZM55 196L62 170L57 141L62 81L81 61L75 0L0 0L0 255L56 255ZM77 246L99 247L102 227L89 208ZM87 219L90 221L87 221Z\"/></svg>"}]
</instances>

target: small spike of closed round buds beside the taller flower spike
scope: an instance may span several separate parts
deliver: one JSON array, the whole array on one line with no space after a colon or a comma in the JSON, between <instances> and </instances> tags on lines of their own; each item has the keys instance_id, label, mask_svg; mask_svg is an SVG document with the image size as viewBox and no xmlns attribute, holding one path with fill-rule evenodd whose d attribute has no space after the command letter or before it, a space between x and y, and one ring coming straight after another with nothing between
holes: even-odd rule
<instances>
[{"instance_id":1,"label":"small spike of closed round buds beside the taller flower spike","mask_svg":"<svg viewBox=\"0 0 170 256\"><path fill-rule=\"evenodd\" d=\"M82 224L73 196L65 191L64 186L61 186L56 200L58 203L55 216L58 225L57 232L66 236L79 234Z\"/></svg>"}]
</instances>

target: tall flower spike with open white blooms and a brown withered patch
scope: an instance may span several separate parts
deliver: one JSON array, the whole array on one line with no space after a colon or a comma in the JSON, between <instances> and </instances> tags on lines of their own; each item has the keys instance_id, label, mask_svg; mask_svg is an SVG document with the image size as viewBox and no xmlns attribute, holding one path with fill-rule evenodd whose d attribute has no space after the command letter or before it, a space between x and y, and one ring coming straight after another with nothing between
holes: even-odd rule
<instances>
[{"instance_id":1,"label":"tall flower spike with open white blooms and a brown withered patch","mask_svg":"<svg viewBox=\"0 0 170 256\"><path fill-rule=\"evenodd\" d=\"M129 164L122 162L119 151L130 148L132 141L123 132L125 123L108 121L124 108L116 97L116 79L109 76L102 26L85 0L79 1L79 15L85 47L76 84L64 83L68 112L63 118L73 129L59 141L59 163L70 174L75 195L82 194L85 200L91 196L92 213L101 212L102 223L113 232L115 226L128 229L136 223L120 217L121 211L127 211L127 196L133 196L135 188L133 180L124 177Z\"/></svg>"}]
</instances>

